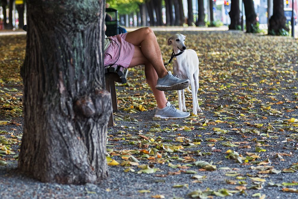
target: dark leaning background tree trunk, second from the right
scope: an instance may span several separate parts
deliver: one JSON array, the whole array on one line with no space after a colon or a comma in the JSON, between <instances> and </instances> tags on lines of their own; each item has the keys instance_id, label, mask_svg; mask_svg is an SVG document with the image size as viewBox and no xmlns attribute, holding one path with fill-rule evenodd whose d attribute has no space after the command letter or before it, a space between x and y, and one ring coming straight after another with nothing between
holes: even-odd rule
<instances>
[{"instance_id":1,"label":"dark leaning background tree trunk, second from the right","mask_svg":"<svg viewBox=\"0 0 298 199\"><path fill-rule=\"evenodd\" d=\"M246 33L254 33L253 27L257 24L257 14L254 11L254 1L245 0L243 3L246 18Z\"/></svg>"}]
</instances>

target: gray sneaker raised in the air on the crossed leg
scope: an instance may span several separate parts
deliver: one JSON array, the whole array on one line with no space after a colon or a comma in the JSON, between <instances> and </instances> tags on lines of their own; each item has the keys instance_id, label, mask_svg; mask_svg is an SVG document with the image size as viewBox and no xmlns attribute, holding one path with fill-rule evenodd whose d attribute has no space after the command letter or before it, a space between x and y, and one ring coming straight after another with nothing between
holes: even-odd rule
<instances>
[{"instance_id":1,"label":"gray sneaker raised in the air on the crossed leg","mask_svg":"<svg viewBox=\"0 0 298 199\"><path fill-rule=\"evenodd\" d=\"M189 79L179 79L172 75L171 71L163 78L158 78L156 89L161 91L166 90L183 90L190 85Z\"/></svg>"}]
</instances>

